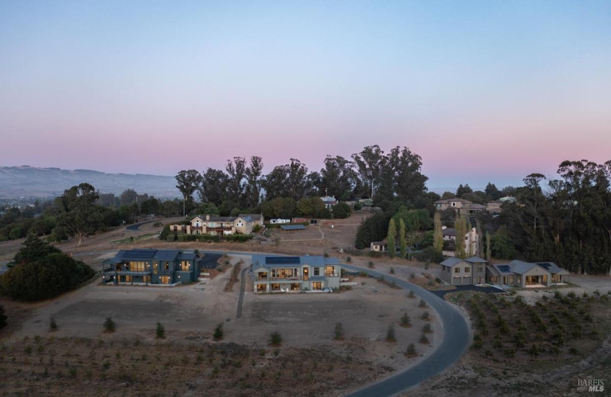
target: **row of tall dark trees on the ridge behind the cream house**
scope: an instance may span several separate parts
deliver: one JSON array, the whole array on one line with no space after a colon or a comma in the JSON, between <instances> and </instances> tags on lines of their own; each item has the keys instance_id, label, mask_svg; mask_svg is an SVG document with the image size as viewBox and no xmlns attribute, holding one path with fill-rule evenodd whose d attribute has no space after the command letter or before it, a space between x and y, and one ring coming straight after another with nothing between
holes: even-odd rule
<instances>
[{"instance_id":1,"label":"row of tall dark trees on the ridge behind the cream house","mask_svg":"<svg viewBox=\"0 0 611 397\"><path fill-rule=\"evenodd\" d=\"M183 195L185 213L196 206L196 193L201 202L212 204L223 214L233 209L255 209L279 198L298 202L323 195L340 201L371 198L376 205L387 206L393 197L409 202L422 199L428 178L421 168L422 159L408 148L397 146L385 153L373 145L350 159L327 156L320 171L310 171L298 159L290 159L263 174L261 157L233 157L224 170L180 171L176 187Z\"/></svg>"}]
</instances>

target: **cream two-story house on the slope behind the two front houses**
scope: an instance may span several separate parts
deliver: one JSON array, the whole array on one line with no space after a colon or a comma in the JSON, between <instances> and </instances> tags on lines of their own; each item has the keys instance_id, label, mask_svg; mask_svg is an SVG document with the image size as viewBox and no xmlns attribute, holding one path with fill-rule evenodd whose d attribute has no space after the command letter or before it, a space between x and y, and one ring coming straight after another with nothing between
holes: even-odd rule
<instances>
[{"instance_id":1,"label":"cream two-story house on the slope behind the two front houses","mask_svg":"<svg viewBox=\"0 0 611 397\"><path fill-rule=\"evenodd\" d=\"M263 223L263 215L258 218L257 223ZM205 234L210 236L251 234L254 224L255 221L250 215L198 215L191 220L190 224L173 224L170 226L170 230L185 234Z\"/></svg>"}]
</instances>

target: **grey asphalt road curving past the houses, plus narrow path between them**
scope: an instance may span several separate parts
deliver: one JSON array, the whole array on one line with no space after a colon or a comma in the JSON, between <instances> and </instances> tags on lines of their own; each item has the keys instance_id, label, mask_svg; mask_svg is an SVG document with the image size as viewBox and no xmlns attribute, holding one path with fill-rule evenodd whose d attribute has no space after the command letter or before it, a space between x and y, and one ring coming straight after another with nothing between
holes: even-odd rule
<instances>
[{"instance_id":1,"label":"grey asphalt road curving past the houses, plus narrow path between them","mask_svg":"<svg viewBox=\"0 0 611 397\"><path fill-rule=\"evenodd\" d=\"M132 225L135 226L135 225ZM108 251L98 251L98 252L108 252ZM227 252L227 251L200 251L203 253L210 254L218 254L218 253L227 253L227 254L235 254L235 255L250 255L254 252ZM82 254L90 254L90 252ZM261 252L256 252L255 254L261 254ZM268 254L269 256L284 256L278 254ZM400 371L393 376L387 377L378 381L374 384L370 384L356 392L350 393L348 397L386 397L386 396L394 396L398 393L404 392L408 390L408 388L414 387L415 385L420 384L426 379L433 377L439 373L442 373L448 367L453 365L458 359L463 356L464 351L469 345L470 341L470 330L469 326L467 326L467 322L464 320L464 317L458 312L452 304L444 301L444 299L439 298L439 296L435 295L431 291L425 290L425 288L419 287L418 285L412 284L409 281L398 279L397 277L390 276L389 274L379 273L378 271L359 268L353 265L346 265L342 263L342 267L351 271L363 271L370 276L373 277L381 277L384 276L387 281L395 281L397 285L406 290L412 290L416 293L420 298L424 299L429 306L431 306L439 315L439 318L444 326L444 338L441 342L441 345L437 346L433 354L426 357L426 359L414 365L414 367L410 367L406 370ZM241 272L241 293L240 299L238 300L238 313L241 317L241 304L243 302L243 285L246 282L246 274L245 270Z\"/></svg>"}]
</instances>

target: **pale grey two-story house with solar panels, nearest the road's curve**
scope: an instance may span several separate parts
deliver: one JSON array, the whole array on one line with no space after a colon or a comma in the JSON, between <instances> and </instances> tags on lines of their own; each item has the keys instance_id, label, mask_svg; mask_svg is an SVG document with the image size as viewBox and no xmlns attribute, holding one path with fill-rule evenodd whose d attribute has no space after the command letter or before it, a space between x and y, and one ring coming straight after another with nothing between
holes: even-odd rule
<instances>
[{"instance_id":1,"label":"pale grey two-story house with solar panels, nearest the road's curve","mask_svg":"<svg viewBox=\"0 0 611 397\"><path fill-rule=\"evenodd\" d=\"M330 291L340 287L342 267L324 256L252 256L255 293Z\"/></svg>"}]
</instances>

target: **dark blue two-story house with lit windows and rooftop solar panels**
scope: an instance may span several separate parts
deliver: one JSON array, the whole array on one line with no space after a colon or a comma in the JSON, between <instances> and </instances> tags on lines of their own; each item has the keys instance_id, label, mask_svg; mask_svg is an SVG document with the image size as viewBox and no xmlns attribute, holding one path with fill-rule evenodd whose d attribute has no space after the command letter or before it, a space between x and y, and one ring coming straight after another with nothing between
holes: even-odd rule
<instances>
[{"instance_id":1,"label":"dark blue two-story house with lit windows and rooftop solar panels","mask_svg":"<svg viewBox=\"0 0 611 397\"><path fill-rule=\"evenodd\" d=\"M178 249L122 249L102 262L106 284L177 285L197 281L201 258Z\"/></svg>"}]
</instances>

